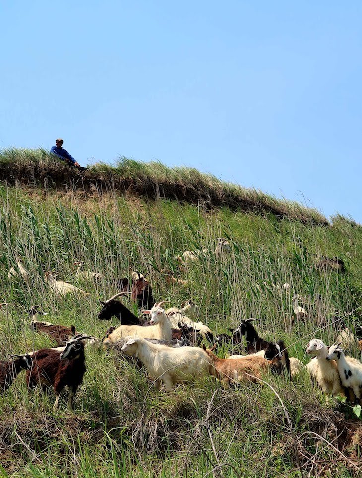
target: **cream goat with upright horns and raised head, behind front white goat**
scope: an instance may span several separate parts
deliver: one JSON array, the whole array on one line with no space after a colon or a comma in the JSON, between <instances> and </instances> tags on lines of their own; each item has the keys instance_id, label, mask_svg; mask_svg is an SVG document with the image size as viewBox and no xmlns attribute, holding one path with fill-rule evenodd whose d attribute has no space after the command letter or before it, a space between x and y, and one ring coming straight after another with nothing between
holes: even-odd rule
<instances>
[{"instance_id":1,"label":"cream goat with upright horns and raised head, behind front white goat","mask_svg":"<svg viewBox=\"0 0 362 478\"><path fill-rule=\"evenodd\" d=\"M164 301L156 303L151 310L144 311L145 314L151 315L151 325L149 327L120 325L104 339L103 344L110 345L129 335L138 335L148 339L172 340L172 328L165 310L162 308L164 303Z\"/></svg>"}]
</instances>

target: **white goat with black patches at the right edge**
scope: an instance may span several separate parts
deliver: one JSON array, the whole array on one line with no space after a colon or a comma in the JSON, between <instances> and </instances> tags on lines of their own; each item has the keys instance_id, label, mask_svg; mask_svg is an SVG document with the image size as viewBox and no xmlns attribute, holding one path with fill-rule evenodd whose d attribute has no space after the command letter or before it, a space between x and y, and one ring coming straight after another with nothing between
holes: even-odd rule
<instances>
[{"instance_id":1,"label":"white goat with black patches at the right edge","mask_svg":"<svg viewBox=\"0 0 362 478\"><path fill-rule=\"evenodd\" d=\"M345 388L352 388L356 396L356 403L360 403L362 391L362 363L358 360L351 361L345 357L341 344L329 347L326 359L337 363L337 370Z\"/></svg>"}]
</instances>

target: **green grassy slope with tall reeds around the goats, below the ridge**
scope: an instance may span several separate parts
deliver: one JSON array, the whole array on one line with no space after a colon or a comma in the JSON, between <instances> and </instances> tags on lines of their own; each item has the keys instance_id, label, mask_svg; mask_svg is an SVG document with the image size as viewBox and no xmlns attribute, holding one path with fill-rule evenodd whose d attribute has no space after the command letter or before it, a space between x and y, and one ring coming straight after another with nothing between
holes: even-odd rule
<instances>
[{"instance_id":1,"label":"green grassy slope with tall reeds around the goats, below the ridge","mask_svg":"<svg viewBox=\"0 0 362 478\"><path fill-rule=\"evenodd\" d=\"M47 161L36 164L37 174L49 167ZM222 260L212 252L218 237L232 244L232 253ZM198 248L210 253L180 276L188 283L168 285L161 271L177 274L175 255ZM341 257L346 274L319 272L315 262L321 254ZM31 274L31 287L20 278L8 279L17 256ZM105 280L77 282L75 260ZM361 266L362 228L344 218L326 227L323 221L312 224L265 211L2 185L0 302L13 305L0 310L0 357L53 346L30 331L26 311L34 304L49 312L50 322L74 324L102 337L111 324L97 320L99 299L109 298L117 291L117 279L138 269L149 272L156 299L170 305L194 300L199 319L214 332L237 326L241 318L259 318L261 335L283 338L290 355L307 363L310 338L335 339L332 327L318 330L322 318L346 315L351 328L362 324ZM56 298L44 282L48 270L86 289L90 297ZM290 291L281 287L285 282ZM293 321L293 294L307 298L305 321ZM135 308L129 299L123 302ZM226 353L221 350L220 356ZM350 353L359 357L357 350ZM210 378L166 394L151 387L143 369L103 350L88 349L86 364L75 413L67 411L65 398L54 411L52 394L28 392L24 374L0 395L1 476L361 473L361 421L342 401L323 396L306 374L291 383L266 376L265 384L227 390Z\"/></svg>"}]
</instances>

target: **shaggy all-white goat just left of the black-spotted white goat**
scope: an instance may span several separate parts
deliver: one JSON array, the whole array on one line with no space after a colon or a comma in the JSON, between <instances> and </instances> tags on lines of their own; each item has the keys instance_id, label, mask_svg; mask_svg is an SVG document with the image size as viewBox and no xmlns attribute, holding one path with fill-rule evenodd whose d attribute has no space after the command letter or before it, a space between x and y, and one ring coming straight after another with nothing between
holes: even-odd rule
<instances>
[{"instance_id":1,"label":"shaggy all-white goat just left of the black-spotted white goat","mask_svg":"<svg viewBox=\"0 0 362 478\"><path fill-rule=\"evenodd\" d=\"M312 339L307 345L306 353L316 356L308 363L307 370L323 392L332 393L333 397L344 395L336 363L326 360L328 347L324 342L319 339Z\"/></svg>"}]
</instances>

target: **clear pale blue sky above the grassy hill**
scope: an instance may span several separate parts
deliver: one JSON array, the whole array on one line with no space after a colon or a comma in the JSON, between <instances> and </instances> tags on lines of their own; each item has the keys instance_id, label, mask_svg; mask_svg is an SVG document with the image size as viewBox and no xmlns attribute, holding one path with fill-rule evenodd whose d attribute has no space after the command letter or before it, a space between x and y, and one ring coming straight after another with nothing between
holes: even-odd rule
<instances>
[{"instance_id":1,"label":"clear pale blue sky above the grassy hill","mask_svg":"<svg viewBox=\"0 0 362 478\"><path fill-rule=\"evenodd\" d=\"M195 166L362 223L362 2L3 1L0 149Z\"/></svg>"}]
</instances>

